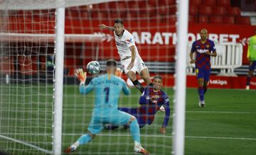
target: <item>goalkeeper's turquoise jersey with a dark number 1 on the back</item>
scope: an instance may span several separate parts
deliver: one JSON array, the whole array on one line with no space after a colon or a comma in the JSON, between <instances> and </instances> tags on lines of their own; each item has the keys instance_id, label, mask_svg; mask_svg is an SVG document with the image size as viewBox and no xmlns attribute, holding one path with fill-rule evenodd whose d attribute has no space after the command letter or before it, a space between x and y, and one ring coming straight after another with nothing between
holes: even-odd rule
<instances>
[{"instance_id":1,"label":"goalkeeper's turquoise jersey with a dark number 1 on the back","mask_svg":"<svg viewBox=\"0 0 256 155\"><path fill-rule=\"evenodd\" d=\"M102 115L109 115L117 110L120 92L128 95L131 93L125 81L113 74L104 74L95 77L87 86L80 85L80 93L86 94L95 90L94 112Z\"/></svg>"}]
</instances>

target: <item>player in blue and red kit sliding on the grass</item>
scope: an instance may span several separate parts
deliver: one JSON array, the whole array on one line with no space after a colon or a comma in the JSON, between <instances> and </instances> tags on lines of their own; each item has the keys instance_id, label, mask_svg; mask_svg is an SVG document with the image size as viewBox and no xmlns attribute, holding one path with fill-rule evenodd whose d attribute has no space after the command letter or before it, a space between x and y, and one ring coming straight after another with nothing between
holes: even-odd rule
<instances>
[{"instance_id":1,"label":"player in blue and red kit sliding on the grass","mask_svg":"<svg viewBox=\"0 0 256 155\"><path fill-rule=\"evenodd\" d=\"M170 107L169 98L164 91L161 91L163 86L163 79L161 76L156 75L153 79L153 87L146 87L142 96L139 98L139 108L118 108L126 113L134 115L137 118L139 127L144 127L145 125L151 125L154 120L156 112L159 110L161 105L165 108L165 117L163 125L160 128L162 134L166 133L166 126L169 122L170 117ZM113 130L118 126L107 125L106 129Z\"/></svg>"}]
</instances>

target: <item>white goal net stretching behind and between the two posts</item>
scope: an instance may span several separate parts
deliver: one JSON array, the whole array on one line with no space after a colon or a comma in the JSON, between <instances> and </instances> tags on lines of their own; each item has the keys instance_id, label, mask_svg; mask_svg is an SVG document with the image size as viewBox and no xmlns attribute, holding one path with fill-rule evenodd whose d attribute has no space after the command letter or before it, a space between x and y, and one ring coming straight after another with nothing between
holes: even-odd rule
<instances>
[{"instance_id":1,"label":"white goal net stretching behind and between the two posts","mask_svg":"<svg viewBox=\"0 0 256 155\"><path fill-rule=\"evenodd\" d=\"M154 75L163 77L174 113L176 1L0 1L0 150L9 154L53 154L55 77L55 8L65 7L62 151L87 132L94 93L82 95L75 69L86 70L92 60L105 73L107 59L119 54L110 30L119 18L134 36L139 54ZM30 5L33 4L33 5ZM86 84L95 75L87 74ZM120 77L132 94L119 98L119 107L139 107L141 93L127 76ZM140 76L139 81L143 83ZM152 154L171 154L172 115L166 133L159 132L166 113L158 111L151 125L142 127L142 146ZM74 154L134 154L129 129L102 130Z\"/></svg>"}]
</instances>

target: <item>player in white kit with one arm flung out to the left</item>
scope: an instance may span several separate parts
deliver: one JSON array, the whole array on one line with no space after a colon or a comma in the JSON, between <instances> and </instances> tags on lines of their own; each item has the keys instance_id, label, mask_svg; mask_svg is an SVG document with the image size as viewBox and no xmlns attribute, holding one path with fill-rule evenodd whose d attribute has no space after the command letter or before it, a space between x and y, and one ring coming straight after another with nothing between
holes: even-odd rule
<instances>
[{"instance_id":1,"label":"player in white kit with one arm flung out to the left","mask_svg":"<svg viewBox=\"0 0 256 155\"><path fill-rule=\"evenodd\" d=\"M139 56L132 34L124 29L124 23L117 19L114 21L114 27L101 24L100 28L114 31L114 40L124 73L127 74L132 84L134 84L139 91L144 91L144 87L139 83L136 76L136 72L138 72L146 84L152 86L151 79L149 78L149 70Z\"/></svg>"}]
</instances>

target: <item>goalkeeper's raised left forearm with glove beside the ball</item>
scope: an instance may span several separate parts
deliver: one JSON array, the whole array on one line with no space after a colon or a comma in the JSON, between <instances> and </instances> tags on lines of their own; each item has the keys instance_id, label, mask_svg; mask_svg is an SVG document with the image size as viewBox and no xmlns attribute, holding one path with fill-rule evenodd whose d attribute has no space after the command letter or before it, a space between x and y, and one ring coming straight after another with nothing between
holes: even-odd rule
<instances>
[{"instance_id":1,"label":"goalkeeper's raised left forearm with glove beside the ball","mask_svg":"<svg viewBox=\"0 0 256 155\"><path fill-rule=\"evenodd\" d=\"M85 86L85 81L86 81L86 78L87 78L86 72L82 71L82 69L77 69L75 71L75 76L77 76L78 79L80 80L80 86L79 86L80 93L82 93L82 94L90 93L90 91L92 91L94 86L93 86L92 81L90 81L90 84Z\"/></svg>"}]
</instances>

